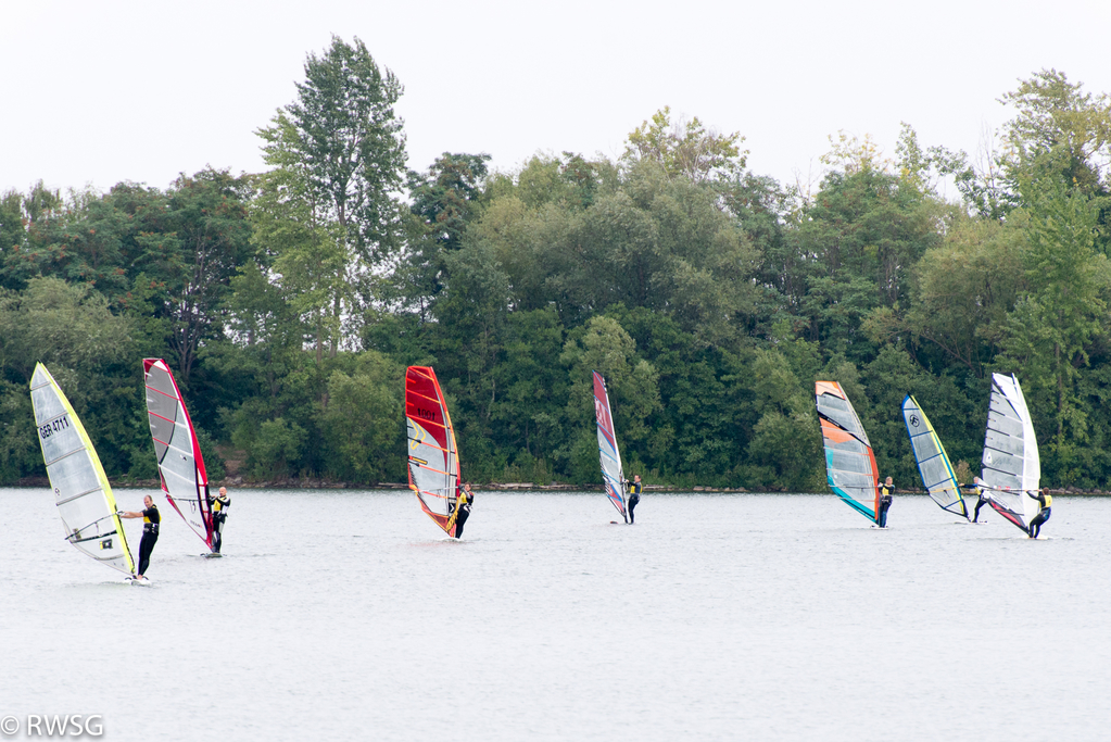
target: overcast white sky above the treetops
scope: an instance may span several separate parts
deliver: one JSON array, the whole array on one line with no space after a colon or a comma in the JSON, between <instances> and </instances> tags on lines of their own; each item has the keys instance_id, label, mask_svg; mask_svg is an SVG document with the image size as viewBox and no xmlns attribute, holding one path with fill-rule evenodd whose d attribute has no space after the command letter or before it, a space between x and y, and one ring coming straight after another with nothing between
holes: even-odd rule
<instances>
[{"instance_id":1,"label":"overcast white sky above the treetops","mask_svg":"<svg viewBox=\"0 0 1111 742\"><path fill-rule=\"evenodd\" d=\"M828 137L899 122L970 153L997 99L1057 68L1111 92L1108 0L381 2L34 0L0 18L0 191L207 164L263 169L254 130L293 100L308 52L361 38L400 78L409 167L487 152L617 157L663 106L739 131L749 167L819 170Z\"/></svg>"}]
</instances>

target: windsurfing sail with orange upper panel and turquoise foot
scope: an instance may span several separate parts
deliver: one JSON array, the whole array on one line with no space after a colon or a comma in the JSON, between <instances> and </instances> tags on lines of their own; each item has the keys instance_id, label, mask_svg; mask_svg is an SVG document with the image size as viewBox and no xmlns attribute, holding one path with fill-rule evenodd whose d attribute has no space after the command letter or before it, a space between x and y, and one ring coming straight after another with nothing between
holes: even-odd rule
<instances>
[{"instance_id":1,"label":"windsurfing sail with orange upper panel and turquoise foot","mask_svg":"<svg viewBox=\"0 0 1111 742\"><path fill-rule=\"evenodd\" d=\"M857 411L835 381L815 382L814 397L818 419L822 423L830 489L861 515L879 522L880 473Z\"/></svg>"}]
</instances>

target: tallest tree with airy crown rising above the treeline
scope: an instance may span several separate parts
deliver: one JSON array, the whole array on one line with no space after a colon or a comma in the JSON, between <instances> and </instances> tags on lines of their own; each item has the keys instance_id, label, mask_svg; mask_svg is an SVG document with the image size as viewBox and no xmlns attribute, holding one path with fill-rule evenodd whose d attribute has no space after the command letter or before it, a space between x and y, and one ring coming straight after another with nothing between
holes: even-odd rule
<instances>
[{"instance_id":1,"label":"tallest tree with airy crown rising above the treeline","mask_svg":"<svg viewBox=\"0 0 1111 742\"><path fill-rule=\"evenodd\" d=\"M327 261L334 280L316 297L314 310L330 313L331 354L346 311L353 309L346 285L369 293L371 268L397 244L400 190L404 167L402 121L393 106L401 83L379 69L359 39L353 44L332 37L322 57L309 54L298 99L280 109L272 126L257 133L263 160L276 170L271 197L289 203L312 239L276 245L273 251L313 253L332 242ZM271 245L263 243L271 249ZM307 265L311 254L292 262ZM317 282L319 285L319 281Z\"/></svg>"}]
</instances>

